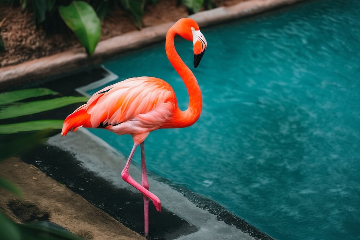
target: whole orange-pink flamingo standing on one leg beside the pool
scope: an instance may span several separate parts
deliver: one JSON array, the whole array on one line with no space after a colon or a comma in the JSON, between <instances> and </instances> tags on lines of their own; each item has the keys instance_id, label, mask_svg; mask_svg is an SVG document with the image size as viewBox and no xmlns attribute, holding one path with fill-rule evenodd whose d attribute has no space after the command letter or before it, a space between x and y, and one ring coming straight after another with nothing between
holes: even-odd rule
<instances>
[{"instance_id":1,"label":"whole orange-pink flamingo standing on one leg beside the pool","mask_svg":"<svg viewBox=\"0 0 360 240\"><path fill-rule=\"evenodd\" d=\"M130 134L134 146L121 177L143 194L144 234L149 234L149 198L161 211L159 198L149 191L145 164L144 140L159 128L183 128L194 124L202 110L202 96L193 72L177 54L174 38L180 35L194 44L194 67L198 67L207 42L198 24L191 18L181 18L167 32L165 50L176 72L183 79L189 94L188 109L181 111L172 87L159 78L133 77L96 92L86 104L77 108L64 121L61 136L79 127L105 128L118 135ZM129 166L136 147L141 150L141 184L129 175Z\"/></svg>"}]
</instances>

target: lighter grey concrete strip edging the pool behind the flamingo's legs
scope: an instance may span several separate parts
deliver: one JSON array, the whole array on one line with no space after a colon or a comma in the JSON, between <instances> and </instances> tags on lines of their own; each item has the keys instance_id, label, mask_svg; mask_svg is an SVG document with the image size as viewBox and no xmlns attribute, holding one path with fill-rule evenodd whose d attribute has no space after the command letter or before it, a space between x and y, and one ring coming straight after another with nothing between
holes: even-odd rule
<instances>
[{"instance_id":1,"label":"lighter grey concrete strip edging the pool behind the flamingo's legs","mask_svg":"<svg viewBox=\"0 0 360 240\"><path fill-rule=\"evenodd\" d=\"M86 140L86 144L78 144L78 142L84 142L84 140ZM113 187L138 194L137 199L139 199L139 204L142 205L142 198L139 192L120 177L122 167L126 163L126 157L107 142L89 132L89 130L80 128L77 132L70 132L66 137L60 137L58 134L51 137L46 144L47 148L55 146L75 156L76 160L81 163L82 168L96 173L99 177L110 182ZM54 159L56 159L55 156ZM139 166L136 167L136 165L134 166L132 163L129 172L136 181L141 182L141 169ZM192 229L192 231L180 229L179 231L168 232L163 236L164 239L273 240L270 236L227 212L213 201L195 194L192 195L185 188L171 186L168 182L153 174L148 176L148 180L152 193L156 194L161 200L162 211L180 217L188 223L188 226L196 227L197 229ZM121 196L122 198L129 197L129 195L125 194ZM210 202L205 204L206 207L204 207L206 201ZM127 208L127 210L134 208L131 204L126 204L123 207ZM154 210L151 201L149 210ZM155 221L161 213L150 211L150 221ZM140 213L136 214L139 215L138 218L141 219L140 222L142 223L143 213L140 211ZM226 214L228 214L228 217L224 217ZM231 219L229 220L229 218ZM165 220L172 221L168 215ZM139 225L143 226L141 223ZM152 238L152 230L150 226L150 239Z\"/></svg>"}]
</instances>

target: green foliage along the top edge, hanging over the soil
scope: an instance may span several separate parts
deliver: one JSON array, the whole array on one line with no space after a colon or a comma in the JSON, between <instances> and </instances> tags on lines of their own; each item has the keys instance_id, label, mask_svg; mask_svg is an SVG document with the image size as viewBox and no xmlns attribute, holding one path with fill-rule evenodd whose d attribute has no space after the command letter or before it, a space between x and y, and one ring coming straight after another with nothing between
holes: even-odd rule
<instances>
[{"instance_id":1,"label":"green foliage along the top edge, hanging over the soil","mask_svg":"<svg viewBox=\"0 0 360 240\"><path fill-rule=\"evenodd\" d=\"M158 0L0 0L0 3L32 12L35 24L48 33L64 33L70 28L87 54L92 55L101 36L101 21L111 9L118 7L129 14L140 29L145 7L157 4ZM212 0L177 0L177 3L184 4L189 14L215 7ZM0 51L5 51L1 35Z\"/></svg>"}]
</instances>

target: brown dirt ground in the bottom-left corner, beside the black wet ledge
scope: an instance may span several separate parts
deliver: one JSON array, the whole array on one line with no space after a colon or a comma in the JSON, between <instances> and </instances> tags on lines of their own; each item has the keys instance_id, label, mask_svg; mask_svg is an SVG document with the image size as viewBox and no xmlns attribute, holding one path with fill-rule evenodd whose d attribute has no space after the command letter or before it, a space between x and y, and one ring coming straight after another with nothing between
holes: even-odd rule
<instances>
[{"instance_id":1,"label":"brown dirt ground in the bottom-left corner, beside the black wet ledge","mask_svg":"<svg viewBox=\"0 0 360 240\"><path fill-rule=\"evenodd\" d=\"M1 162L0 176L12 181L23 192L23 199L18 200L0 188L0 209L15 222L51 221L85 239L145 239L18 158Z\"/></svg>"}]
</instances>

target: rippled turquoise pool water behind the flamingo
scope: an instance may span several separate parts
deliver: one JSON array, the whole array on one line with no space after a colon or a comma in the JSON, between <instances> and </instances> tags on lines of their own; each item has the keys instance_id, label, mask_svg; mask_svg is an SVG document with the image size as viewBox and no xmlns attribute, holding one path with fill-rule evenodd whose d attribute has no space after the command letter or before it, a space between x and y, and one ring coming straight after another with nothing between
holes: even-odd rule
<instances>
[{"instance_id":1,"label":"rippled turquoise pool water behind the flamingo","mask_svg":"<svg viewBox=\"0 0 360 240\"><path fill-rule=\"evenodd\" d=\"M150 133L149 170L275 239L359 239L360 1L309 1L202 33L202 115ZM176 47L191 65L192 44ZM164 44L104 65L120 80L163 78L186 109ZM91 131L130 153L130 136Z\"/></svg>"}]
</instances>

